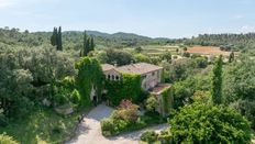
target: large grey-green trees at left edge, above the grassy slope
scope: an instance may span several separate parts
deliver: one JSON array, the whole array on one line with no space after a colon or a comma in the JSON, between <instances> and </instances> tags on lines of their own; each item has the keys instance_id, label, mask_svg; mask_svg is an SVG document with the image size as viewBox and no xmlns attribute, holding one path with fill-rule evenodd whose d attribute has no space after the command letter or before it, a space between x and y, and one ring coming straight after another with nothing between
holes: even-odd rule
<instances>
[{"instance_id":1,"label":"large grey-green trees at left edge, above the grassy slope","mask_svg":"<svg viewBox=\"0 0 255 144\"><path fill-rule=\"evenodd\" d=\"M54 48L1 48L0 107L8 118L19 118L44 98L54 99L57 79L74 76L74 59Z\"/></svg>"}]
</instances>

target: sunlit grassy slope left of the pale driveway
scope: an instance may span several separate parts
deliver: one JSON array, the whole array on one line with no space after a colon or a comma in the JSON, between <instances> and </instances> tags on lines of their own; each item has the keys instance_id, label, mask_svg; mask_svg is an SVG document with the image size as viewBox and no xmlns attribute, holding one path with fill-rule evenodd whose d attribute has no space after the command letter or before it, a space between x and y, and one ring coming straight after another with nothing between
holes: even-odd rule
<instances>
[{"instance_id":1,"label":"sunlit grassy slope left of the pale driveway","mask_svg":"<svg viewBox=\"0 0 255 144\"><path fill-rule=\"evenodd\" d=\"M88 109L85 109L88 111ZM11 122L0 130L22 144L58 144L66 140L77 124L79 112L68 117L56 114L52 109L36 109L25 119Z\"/></svg>"}]
</instances>

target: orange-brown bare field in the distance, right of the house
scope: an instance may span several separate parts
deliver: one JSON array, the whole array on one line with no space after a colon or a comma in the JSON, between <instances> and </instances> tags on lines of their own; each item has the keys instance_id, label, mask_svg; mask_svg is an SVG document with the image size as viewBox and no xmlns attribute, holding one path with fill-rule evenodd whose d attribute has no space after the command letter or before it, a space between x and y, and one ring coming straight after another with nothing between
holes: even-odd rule
<instances>
[{"instance_id":1,"label":"orange-brown bare field in the distance, right of the house","mask_svg":"<svg viewBox=\"0 0 255 144\"><path fill-rule=\"evenodd\" d=\"M230 52L221 51L220 47L214 47L214 46L193 46L193 47L189 47L187 52L191 54L201 54L201 55L224 55L224 56L230 55Z\"/></svg>"}]
</instances>

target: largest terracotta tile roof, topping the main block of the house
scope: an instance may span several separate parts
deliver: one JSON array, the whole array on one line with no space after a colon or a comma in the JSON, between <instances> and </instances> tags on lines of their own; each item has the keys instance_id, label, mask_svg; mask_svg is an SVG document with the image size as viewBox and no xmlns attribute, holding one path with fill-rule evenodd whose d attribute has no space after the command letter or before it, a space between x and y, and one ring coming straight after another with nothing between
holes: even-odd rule
<instances>
[{"instance_id":1,"label":"largest terracotta tile roof, topping the main block of the house","mask_svg":"<svg viewBox=\"0 0 255 144\"><path fill-rule=\"evenodd\" d=\"M117 70L121 73L131 73L131 74L141 74L141 75L149 73L149 71L159 70L159 69L163 69L163 67L155 66L155 65L147 64L147 63L137 63L137 64L131 64L131 65L117 67Z\"/></svg>"}]
</instances>

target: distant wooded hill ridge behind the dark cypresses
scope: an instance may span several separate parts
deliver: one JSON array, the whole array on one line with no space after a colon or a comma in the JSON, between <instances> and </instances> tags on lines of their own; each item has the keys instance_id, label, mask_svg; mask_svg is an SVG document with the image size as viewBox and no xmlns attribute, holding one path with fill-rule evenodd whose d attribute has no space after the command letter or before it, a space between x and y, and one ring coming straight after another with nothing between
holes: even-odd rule
<instances>
[{"instance_id":1,"label":"distant wooded hill ridge behind the dark cypresses","mask_svg":"<svg viewBox=\"0 0 255 144\"><path fill-rule=\"evenodd\" d=\"M166 43L168 38L152 38L133 33L118 32L113 34L99 31L86 31L88 35L93 35L98 47L123 48L130 46L141 46L149 44ZM79 49L82 46L82 31L64 31L64 48ZM51 43L52 32L20 32L19 29L0 29L0 46L40 46Z\"/></svg>"}]
</instances>

